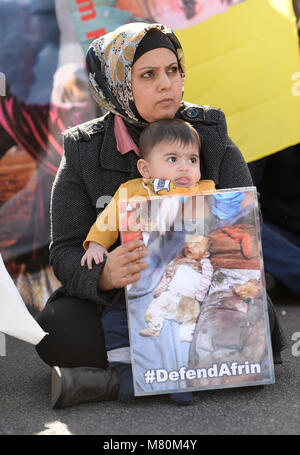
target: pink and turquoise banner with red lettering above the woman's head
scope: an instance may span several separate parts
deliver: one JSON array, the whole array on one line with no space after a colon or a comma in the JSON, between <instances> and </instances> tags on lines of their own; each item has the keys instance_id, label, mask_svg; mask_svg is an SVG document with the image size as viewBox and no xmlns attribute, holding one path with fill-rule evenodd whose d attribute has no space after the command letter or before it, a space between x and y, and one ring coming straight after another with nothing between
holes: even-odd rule
<instances>
[{"instance_id":1,"label":"pink and turquoise banner with red lettering above the woman's head","mask_svg":"<svg viewBox=\"0 0 300 455\"><path fill-rule=\"evenodd\" d=\"M128 22L159 22L174 30L200 24L245 0L67 0L84 50Z\"/></svg>"}]
</instances>

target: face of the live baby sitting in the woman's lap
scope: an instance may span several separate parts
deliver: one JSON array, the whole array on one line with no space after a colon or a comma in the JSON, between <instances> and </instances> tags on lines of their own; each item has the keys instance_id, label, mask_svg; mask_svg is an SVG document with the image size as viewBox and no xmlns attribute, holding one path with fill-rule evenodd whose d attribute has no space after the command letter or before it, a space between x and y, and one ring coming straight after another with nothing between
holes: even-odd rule
<instances>
[{"instance_id":1,"label":"face of the live baby sitting in the woman's lap","mask_svg":"<svg viewBox=\"0 0 300 455\"><path fill-rule=\"evenodd\" d=\"M145 164L142 176L171 180L178 186L190 187L200 180L199 148L196 144L183 146L177 142L156 144Z\"/></svg>"}]
</instances>

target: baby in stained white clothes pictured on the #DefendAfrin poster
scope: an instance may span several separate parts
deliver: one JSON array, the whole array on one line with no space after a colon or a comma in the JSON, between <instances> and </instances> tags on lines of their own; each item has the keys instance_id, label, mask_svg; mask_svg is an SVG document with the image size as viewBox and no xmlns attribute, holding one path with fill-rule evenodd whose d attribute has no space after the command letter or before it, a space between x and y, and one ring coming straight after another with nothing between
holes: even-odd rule
<instances>
[{"instance_id":1,"label":"baby in stained white clothes pictured on the #DefendAfrin poster","mask_svg":"<svg viewBox=\"0 0 300 455\"><path fill-rule=\"evenodd\" d=\"M180 324L180 341L192 341L200 303L211 284L213 267L208 259L207 237L188 236L183 251L183 256L176 256L166 267L155 298L146 311L148 327L140 330L140 335L157 337L164 319L173 319Z\"/></svg>"}]
</instances>

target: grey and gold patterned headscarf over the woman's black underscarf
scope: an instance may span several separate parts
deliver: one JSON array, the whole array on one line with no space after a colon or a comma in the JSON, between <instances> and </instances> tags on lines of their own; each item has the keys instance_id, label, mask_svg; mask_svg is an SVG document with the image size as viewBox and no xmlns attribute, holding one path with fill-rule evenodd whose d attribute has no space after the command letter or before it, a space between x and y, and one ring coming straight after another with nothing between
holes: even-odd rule
<instances>
[{"instance_id":1,"label":"grey and gold patterned headscarf over the woman's black underscarf","mask_svg":"<svg viewBox=\"0 0 300 455\"><path fill-rule=\"evenodd\" d=\"M135 51L151 29L165 34L174 45L182 75L185 63L182 47L174 33L162 24L134 22L95 39L86 56L91 93L96 103L130 123L145 124L135 107L131 69Z\"/></svg>"}]
</instances>

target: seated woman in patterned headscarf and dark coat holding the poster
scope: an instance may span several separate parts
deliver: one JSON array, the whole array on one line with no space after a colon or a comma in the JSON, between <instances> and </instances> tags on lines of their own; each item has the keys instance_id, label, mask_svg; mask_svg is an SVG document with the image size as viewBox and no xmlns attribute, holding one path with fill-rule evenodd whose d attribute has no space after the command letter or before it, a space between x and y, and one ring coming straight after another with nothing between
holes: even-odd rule
<instances>
[{"instance_id":1,"label":"seated woman in patterned headscarf and dark coat holding the poster","mask_svg":"<svg viewBox=\"0 0 300 455\"><path fill-rule=\"evenodd\" d=\"M134 241L114 245L106 262L92 270L82 269L80 259L82 242L109 196L140 177L136 144L145 125L161 118L189 121L202 137L202 178L214 180L217 188L252 184L227 135L224 114L182 103L183 51L169 29L142 23L119 27L91 44L87 70L96 102L109 113L65 133L65 154L53 186L50 260L63 288L40 314L38 322L49 336L37 351L50 366L65 367L53 370L54 407L117 396L118 377L104 369L97 310L101 314L107 306L124 304L124 286L147 267L135 261L147 253L137 250L139 241ZM283 339L271 305L270 320L279 355Z\"/></svg>"}]
</instances>

